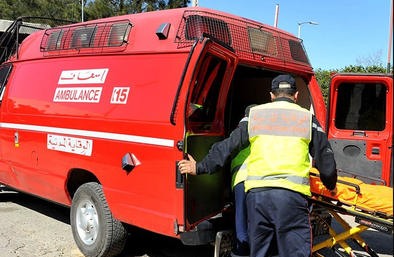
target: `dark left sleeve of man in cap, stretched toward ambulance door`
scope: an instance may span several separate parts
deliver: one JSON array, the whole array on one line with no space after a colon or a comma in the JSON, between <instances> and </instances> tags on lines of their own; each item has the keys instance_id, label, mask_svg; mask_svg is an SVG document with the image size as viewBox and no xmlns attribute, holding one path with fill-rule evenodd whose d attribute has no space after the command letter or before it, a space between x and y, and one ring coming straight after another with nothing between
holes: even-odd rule
<instances>
[{"instance_id":1,"label":"dark left sleeve of man in cap, stretched toward ambulance door","mask_svg":"<svg viewBox=\"0 0 394 257\"><path fill-rule=\"evenodd\" d=\"M239 122L239 127L234 129L229 137L214 143L205 158L196 164L197 175L213 174L220 171L248 145L248 122L243 119Z\"/></svg>"}]
</instances>

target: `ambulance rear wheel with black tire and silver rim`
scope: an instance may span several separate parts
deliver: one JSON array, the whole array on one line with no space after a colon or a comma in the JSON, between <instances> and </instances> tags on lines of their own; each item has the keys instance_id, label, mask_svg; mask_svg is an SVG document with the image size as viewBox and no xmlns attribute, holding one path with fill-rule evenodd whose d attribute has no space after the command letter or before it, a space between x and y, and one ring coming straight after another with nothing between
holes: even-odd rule
<instances>
[{"instance_id":1,"label":"ambulance rear wheel with black tire and silver rim","mask_svg":"<svg viewBox=\"0 0 394 257\"><path fill-rule=\"evenodd\" d=\"M126 245L127 229L113 218L99 183L89 182L77 189L70 223L75 243L86 257L114 257Z\"/></svg>"}]
</instances>

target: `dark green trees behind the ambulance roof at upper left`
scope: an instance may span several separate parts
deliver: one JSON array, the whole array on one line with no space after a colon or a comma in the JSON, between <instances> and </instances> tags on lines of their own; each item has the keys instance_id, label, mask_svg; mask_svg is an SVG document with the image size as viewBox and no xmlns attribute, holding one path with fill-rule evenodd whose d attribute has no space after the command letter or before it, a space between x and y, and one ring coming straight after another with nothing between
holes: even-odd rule
<instances>
[{"instance_id":1,"label":"dark green trees behind the ambulance roof at upper left","mask_svg":"<svg viewBox=\"0 0 394 257\"><path fill-rule=\"evenodd\" d=\"M0 0L0 19L40 16L80 22L123 14L186 7L190 0Z\"/></svg>"}]
</instances>

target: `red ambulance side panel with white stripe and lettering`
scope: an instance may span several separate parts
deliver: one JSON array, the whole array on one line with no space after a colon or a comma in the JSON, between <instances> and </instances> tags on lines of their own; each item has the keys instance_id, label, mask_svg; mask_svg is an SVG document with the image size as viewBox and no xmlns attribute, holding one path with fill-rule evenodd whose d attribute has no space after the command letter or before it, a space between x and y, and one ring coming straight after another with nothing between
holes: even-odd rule
<instances>
[{"instance_id":1,"label":"red ambulance side panel with white stripe and lettering","mask_svg":"<svg viewBox=\"0 0 394 257\"><path fill-rule=\"evenodd\" d=\"M186 58L135 54L14 63L0 110L1 182L70 206L68 190L95 177L116 219L152 231L173 228L183 215L174 160L182 159L175 144L184 129L181 120L170 124L170 114ZM164 69L169 60L171 72ZM121 167L126 154L136 162L129 172ZM173 235L173 229L160 232Z\"/></svg>"}]
</instances>

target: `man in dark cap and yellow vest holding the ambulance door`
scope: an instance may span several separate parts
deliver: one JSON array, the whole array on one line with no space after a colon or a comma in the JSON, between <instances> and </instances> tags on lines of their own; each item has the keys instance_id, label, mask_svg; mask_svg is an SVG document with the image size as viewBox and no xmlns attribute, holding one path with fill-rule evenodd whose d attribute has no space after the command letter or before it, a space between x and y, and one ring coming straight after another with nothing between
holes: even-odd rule
<instances>
[{"instance_id":1,"label":"man in dark cap and yellow vest holding the ambulance door","mask_svg":"<svg viewBox=\"0 0 394 257\"><path fill-rule=\"evenodd\" d=\"M336 193L334 153L317 119L295 104L294 79L272 81L271 103L250 110L230 137L215 143L199 163L181 160L181 173L215 173L250 144L245 180L251 257L266 257L275 239L280 257L310 257L312 229L307 197L311 195L309 154L327 189Z\"/></svg>"}]
</instances>

